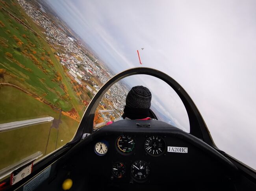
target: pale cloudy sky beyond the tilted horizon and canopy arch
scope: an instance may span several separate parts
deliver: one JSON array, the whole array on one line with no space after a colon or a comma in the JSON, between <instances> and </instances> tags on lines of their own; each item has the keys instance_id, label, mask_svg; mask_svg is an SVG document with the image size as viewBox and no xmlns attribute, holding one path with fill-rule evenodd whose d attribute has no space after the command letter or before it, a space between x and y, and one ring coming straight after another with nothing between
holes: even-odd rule
<instances>
[{"instance_id":1,"label":"pale cloudy sky beyond the tilted horizon and canopy arch","mask_svg":"<svg viewBox=\"0 0 256 191\"><path fill-rule=\"evenodd\" d=\"M256 1L45 1L116 73L143 66L174 78L217 147L256 169ZM162 108L167 115L171 106ZM183 117L178 107L174 118L185 127Z\"/></svg>"}]
</instances>

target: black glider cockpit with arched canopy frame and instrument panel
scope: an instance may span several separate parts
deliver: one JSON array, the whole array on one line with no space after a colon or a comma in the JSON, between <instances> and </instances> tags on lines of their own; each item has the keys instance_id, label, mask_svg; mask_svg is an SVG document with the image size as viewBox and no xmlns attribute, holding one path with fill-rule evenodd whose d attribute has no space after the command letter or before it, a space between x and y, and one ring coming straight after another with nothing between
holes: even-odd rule
<instances>
[{"instance_id":1,"label":"black glider cockpit with arched canopy frame and instrument panel","mask_svg":"<svg viewBox=\"0 0 256 191\"><path fill-rule=\"evenodd\" d=\"M119 120L93 131L96 107L115 82L151 75L169 84L182 100L190 133L160 120ZM87 107L76 135L38 162L17 190L255 190L256 174L220 151L197 107L173 78L133 68L111 78Z\"/></svg>"}]
</instances>

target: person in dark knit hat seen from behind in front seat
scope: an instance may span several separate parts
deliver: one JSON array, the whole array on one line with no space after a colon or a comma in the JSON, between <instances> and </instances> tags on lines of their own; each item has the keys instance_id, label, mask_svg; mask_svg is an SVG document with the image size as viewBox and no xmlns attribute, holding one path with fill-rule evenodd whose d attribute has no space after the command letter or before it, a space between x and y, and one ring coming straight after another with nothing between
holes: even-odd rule
<instances>
[{"instance_id":1,"label":"person in dark knit hat seen from behind in front seat","mask_svg":"<svg viewBox=\"0 0 256 191\"><path fill-rule=\"evenodd\" d=\"M122 119L151 120L151 98L151 92L147 87L142 85L132 87L126 96L124 114L116 120L108 122L107 125Z\"/></svg>"}]
</instances>

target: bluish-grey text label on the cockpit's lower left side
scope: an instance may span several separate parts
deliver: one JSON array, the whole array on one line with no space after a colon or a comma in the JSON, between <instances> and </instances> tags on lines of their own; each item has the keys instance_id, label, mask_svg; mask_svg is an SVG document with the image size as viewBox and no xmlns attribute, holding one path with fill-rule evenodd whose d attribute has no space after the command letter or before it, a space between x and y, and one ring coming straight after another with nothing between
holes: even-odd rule
<instances>
[{"instance_id":1,"label":"bluish-grey text label on the cockpit's lower left side","mask_svg":"<svg viewBox=\"0 0 256 191\"><path fill-rule=\"evenodd\" d=\"M50 172L51 166L46 168L39 175L30 180L30 182L25 184L25 186L23 187L23 191L33 191L34 189L36 189L44 180L46 180L50 176Z\"/></svg>"}]
</instances>

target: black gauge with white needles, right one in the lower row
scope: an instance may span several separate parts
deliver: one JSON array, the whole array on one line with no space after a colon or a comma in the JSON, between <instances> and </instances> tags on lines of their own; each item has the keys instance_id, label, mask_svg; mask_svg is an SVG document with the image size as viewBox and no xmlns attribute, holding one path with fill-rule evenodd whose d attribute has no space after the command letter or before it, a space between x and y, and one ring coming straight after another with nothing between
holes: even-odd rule
<instances>
[{"instance_id":1,"label":"black gauge with white needles, right one in the lower row","mask_svg":"<svg viewBox=\"0 0 256 191\"><path fill-rule=\"evenodd\" d=\"M147 162L143 160L136 160L132 163L131 174L132 178L138 182L146 181L149 175L150 168Z\"/></svg>"}]
</instances>

